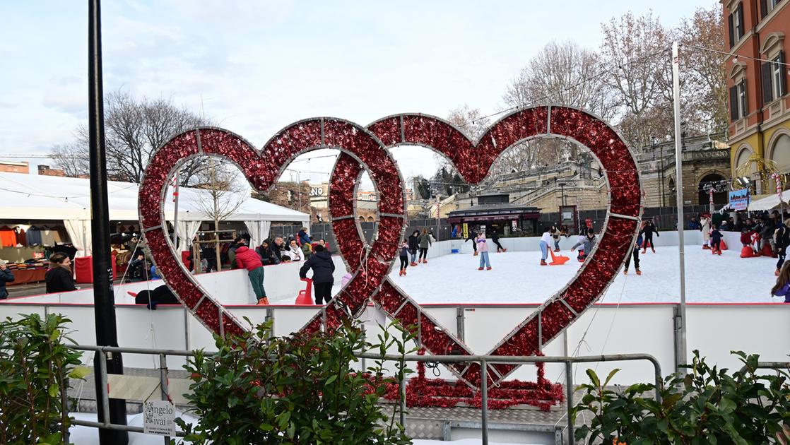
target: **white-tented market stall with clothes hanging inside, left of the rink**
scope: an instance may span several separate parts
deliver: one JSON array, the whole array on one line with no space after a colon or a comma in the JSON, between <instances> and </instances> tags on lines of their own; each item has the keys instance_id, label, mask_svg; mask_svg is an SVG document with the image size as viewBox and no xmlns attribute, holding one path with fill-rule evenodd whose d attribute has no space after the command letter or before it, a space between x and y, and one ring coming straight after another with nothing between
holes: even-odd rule
<instances>
[{"instance_id":1,"label":"white-tented market stall with clothes hanging inside, left of the rink","mask_svg":"<svg viewBox=\"0 0 790 445\"><path fill-rule=\"evenodd\" d=\"M111 221L130 228L137 226L138 188L139 185L130 182L107 182ZM0 173L0 190L3 191L0 259L24 263L25 260L47 258L63 248L73 249L73 256L91 256L88 179ZM222 199L235 207L231 215L222 220L243 225L256 244L269 236L272 222L309 226L310 215L247 194L227 192ZM213 221L206 204L211 202L209 190L182 187L179 189L178 218L175 219L174 202L167 200L165 218L171 225L175 222L177 250L188 250L195 234L201 230L201 222Z\"/></svg>"}]
</instances>

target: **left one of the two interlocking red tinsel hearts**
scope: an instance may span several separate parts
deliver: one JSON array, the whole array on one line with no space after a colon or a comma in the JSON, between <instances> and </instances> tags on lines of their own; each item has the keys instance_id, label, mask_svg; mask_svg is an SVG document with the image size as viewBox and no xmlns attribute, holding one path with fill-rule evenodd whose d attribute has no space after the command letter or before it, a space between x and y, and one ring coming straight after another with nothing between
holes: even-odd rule
<instances>
[{"instance_id":1,"label":"left one of the two interlocking red tinsel hearts","mask_svg":"<svg viewBox=\"0 0 790 445\"><path fill-rule=\"evenodd\" d=\"M240 136L223 129L200 128L181 133L152 155L141 181L139 210L141 230L151 250L153 262L179 301L218 335L240 334L243 327L224 306L194 282L186 267L176 259L171 239L164 230L164 191L175 169L198 155L228 159L239 166L250 184L258 190L271 188L285 166L296 156L319 148L339 148L368 166L371 178L379 185L378 211L382 215L380 236L367 257L367 275L344 288L346 296L368 292L377 276L389 271L404 226L403 180L394 160L367 129L341 119L314 118L296 122L277 133L261 152ZM377 283L378 285L378 283ZM325 310L327 323L335 324L344 313L357 312L367 296L352 301L336 298ZM318 329L319 323L312 329Z\"/></svg>"}]
</instances>

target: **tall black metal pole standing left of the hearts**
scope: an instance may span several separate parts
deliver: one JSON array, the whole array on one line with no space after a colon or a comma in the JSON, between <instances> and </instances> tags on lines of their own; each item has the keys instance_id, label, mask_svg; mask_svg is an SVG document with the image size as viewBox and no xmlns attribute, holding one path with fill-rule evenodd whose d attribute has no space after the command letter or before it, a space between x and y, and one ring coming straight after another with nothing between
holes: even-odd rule
<instances>
[{"instance_id":1,"label":"tall black metal pole standing left of the hearts","mask_svg":"<svg viewBox=\"0 0 790 445\"><path fill-rule=\"evenodd\" d=\"M107 209L107 157L104 148L104 107L101 67L101 8L100 0L88 1L88 131L90 137L91 170L91 230L93 256L93 311L96 316L96 345L118 346L115 327L115 295L112 290L110 264L110 213ZM97 352L96 354L99 354ZM97 359L94 363L98 363ZM101 394L101 381L96 366L96 395ZM107 353L107 373L122 374L120 353ZM97 401L99 398L96 398ZM126 400L109 400L109 421L126 424ZM105 422L103 409L96 409L99 421ZM102 445L129 443L129 434L100 428Z\"/></svg>"}]
</instances>

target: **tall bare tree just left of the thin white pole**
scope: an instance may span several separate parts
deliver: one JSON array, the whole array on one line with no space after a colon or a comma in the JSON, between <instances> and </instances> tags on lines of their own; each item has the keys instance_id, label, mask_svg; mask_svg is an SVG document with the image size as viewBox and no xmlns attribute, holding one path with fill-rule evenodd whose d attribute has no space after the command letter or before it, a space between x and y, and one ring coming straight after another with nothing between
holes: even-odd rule
<instances>
[{"instance_id":1,"label":"tall bare tree just left of the thin white pole","mask_svg":"<svg viewBox=\"0 0 790 445\"><path fill-rule=\"evenodd\" d=\"M601 24L600 54L611 75L602 77L616 92L621 133L636 147L664 136L672 122L671 83L667 81L669 32L653 13L613 17Z\"/></svg>"}]
</instances>

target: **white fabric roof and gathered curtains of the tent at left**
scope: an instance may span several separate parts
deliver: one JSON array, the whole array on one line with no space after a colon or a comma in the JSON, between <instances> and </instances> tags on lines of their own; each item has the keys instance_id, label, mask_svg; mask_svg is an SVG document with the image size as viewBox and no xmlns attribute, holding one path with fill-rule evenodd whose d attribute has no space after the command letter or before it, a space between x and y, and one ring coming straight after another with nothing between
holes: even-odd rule
<instances>
[{"instance_id":1,"label":"white fabric roof and gathered curtains of the tent at left","mask_svg":"<svg viewBox=\"0 0 790 445\"><path fill-rule=\"evenodd\" d=\"M137 221L138 184L107 181L110 219ZM61 178L32 174L0 173L3 199L0 219L63 220L74 247L90 255L91 211L88 179ZM169 195L171 196L171 195ZM272 222L295 222L308 226L310 215L276 204L256 200L241 193L227 193L223 200L239 207L224 221L244 222L254 243L269 236ZM211 194L203 189L179 189L179 249L184 249L198 232L201 221L211 221L205 209L213 204ZM165 218L173 220L174 204L165 202Z\"/></svg>"}]
</instances>

